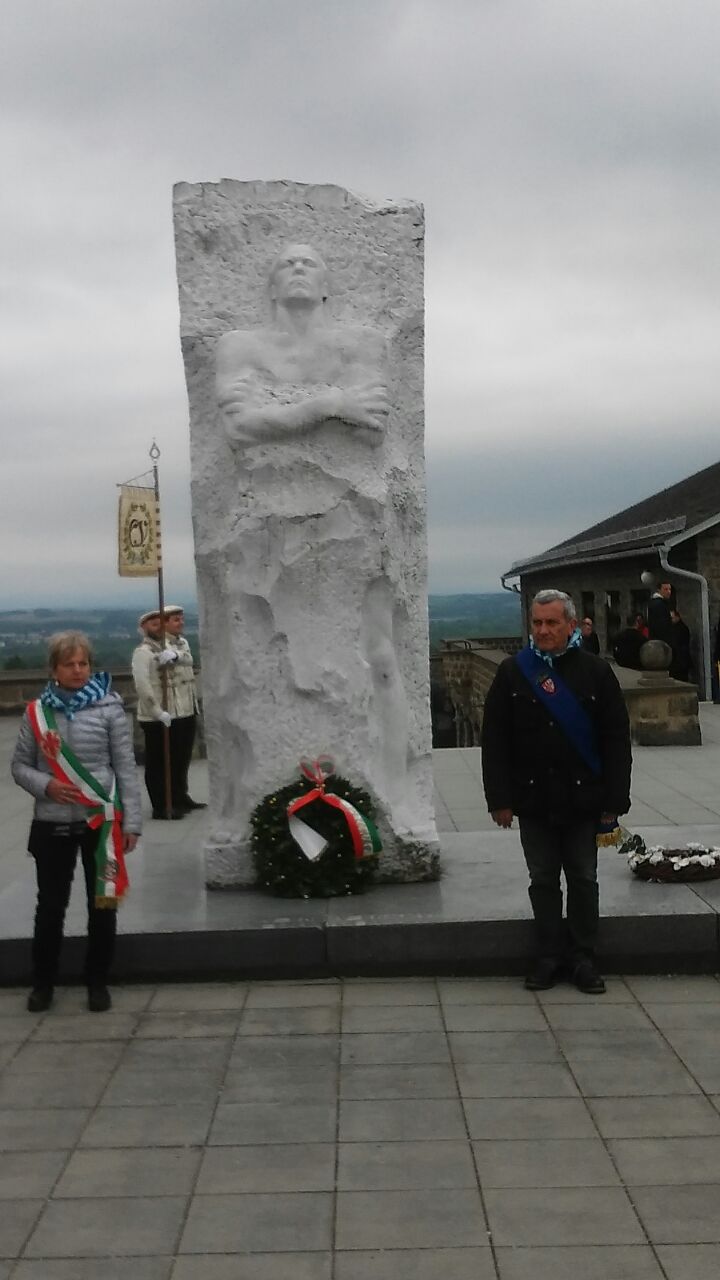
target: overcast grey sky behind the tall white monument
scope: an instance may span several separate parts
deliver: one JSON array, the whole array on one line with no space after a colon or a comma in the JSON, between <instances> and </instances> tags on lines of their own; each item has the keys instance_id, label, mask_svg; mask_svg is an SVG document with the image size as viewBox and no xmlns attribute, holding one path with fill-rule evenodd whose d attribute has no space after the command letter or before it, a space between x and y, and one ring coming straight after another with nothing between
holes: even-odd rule
<instances>
[{"instance_id":1,"label":"overcast grey sky behind the tall white monument","mask_svg":"<svg viewBox=\"0 0 720 1280\"><path fill-rule=\"evenodd\" d=\"M3 0L0 608L195 594L172 186L427 218L430 589L717 461L717 0Z\"/></svg>"}]
</instances>

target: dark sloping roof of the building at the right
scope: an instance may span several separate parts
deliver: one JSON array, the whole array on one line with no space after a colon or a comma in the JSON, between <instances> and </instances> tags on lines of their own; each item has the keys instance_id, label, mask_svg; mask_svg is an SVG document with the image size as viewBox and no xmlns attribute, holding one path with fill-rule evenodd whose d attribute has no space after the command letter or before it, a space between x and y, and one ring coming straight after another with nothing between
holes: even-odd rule
<instances>
[{"instance_id":1,"label":"dark sloping roof of the building at the right","mask_svg":"<svg viewBox=\"0 0 720 1280\"><path fill-rule=\"evenodd\" d=\"M633 507L609 516L573 538L556 543L539 556L518 561L512 568L539 568L547 561L594 559L594 556L611 554L612 547L624 549L653 547L666 538L678 536L683 530L691 530L714 516L720 516L720 462L714 462L703 471L661 489L650 498L643 498ZM588 545L593 544L593 545ZM565 556L561 553L565 552ZM594 553L594 554L593 554Z\"/></svg>"}]
</instances>

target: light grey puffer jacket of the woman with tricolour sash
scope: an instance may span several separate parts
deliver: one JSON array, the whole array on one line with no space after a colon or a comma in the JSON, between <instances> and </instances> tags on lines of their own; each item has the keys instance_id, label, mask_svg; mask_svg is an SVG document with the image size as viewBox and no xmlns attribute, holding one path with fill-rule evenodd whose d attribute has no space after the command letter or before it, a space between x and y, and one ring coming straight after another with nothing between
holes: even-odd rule
<instances>
[{"instance_id":1,"label":"light grey puffer jacket of the woman with tricolour sash","mask_svg":"<svg viewBox=\"0 0 720 1280\"><path fill-rule=\"evenodd\" d=\"M119 694L106 694L100 701L83 707L72 721L55 712L58 732L73 749L78 760L109 790L113 776L123 801L123 831L140 835L142 829L140 785L123 700ZM41 822L85 822L87 808L55 804L45 795L50 765L32 732L27 712L13 755L13 777L18 786L35 796L35 817Z\"/></svg>"}]
</instances>

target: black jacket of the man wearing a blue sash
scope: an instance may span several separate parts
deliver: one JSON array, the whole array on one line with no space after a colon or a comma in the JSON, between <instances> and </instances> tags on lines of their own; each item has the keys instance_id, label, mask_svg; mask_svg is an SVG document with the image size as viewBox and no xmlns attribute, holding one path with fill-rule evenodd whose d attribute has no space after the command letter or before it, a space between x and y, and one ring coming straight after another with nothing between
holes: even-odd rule
<instances>
[{"instance_id":1,"label":"black jacket of the man wearing a blue sash","mask_svg":"<svg viewBox=\"0 0 720 1280\"><path fill-rule=\"evenodd\" d=\"M488 809L520 818L574 822L630 808L630 726L618 680L603 658L568 649L555 671L596 728L596 776L541 703L514 658L498 667L483 716L483 782ZM551 668L548 667L548 673Z\"/></svg>"}]
</instances>

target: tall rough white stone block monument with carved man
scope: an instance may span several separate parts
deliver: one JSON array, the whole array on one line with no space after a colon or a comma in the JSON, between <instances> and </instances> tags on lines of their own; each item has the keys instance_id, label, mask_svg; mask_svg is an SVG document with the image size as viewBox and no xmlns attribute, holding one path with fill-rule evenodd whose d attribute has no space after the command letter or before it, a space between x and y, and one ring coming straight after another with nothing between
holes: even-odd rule
<instances>
[{"instance_id":1,"label":"tall rough white stone block monument with carved man","mask_svg":"<svg viewBox=\"0 0 720 1280\"><path fill-rule=\"evenodd\" d=\"M372 794L382 878L434 878L421 206L181 183L174 221L208 883L252 882L254 806L319 755Z\"/></svg>"}]
</instances>

